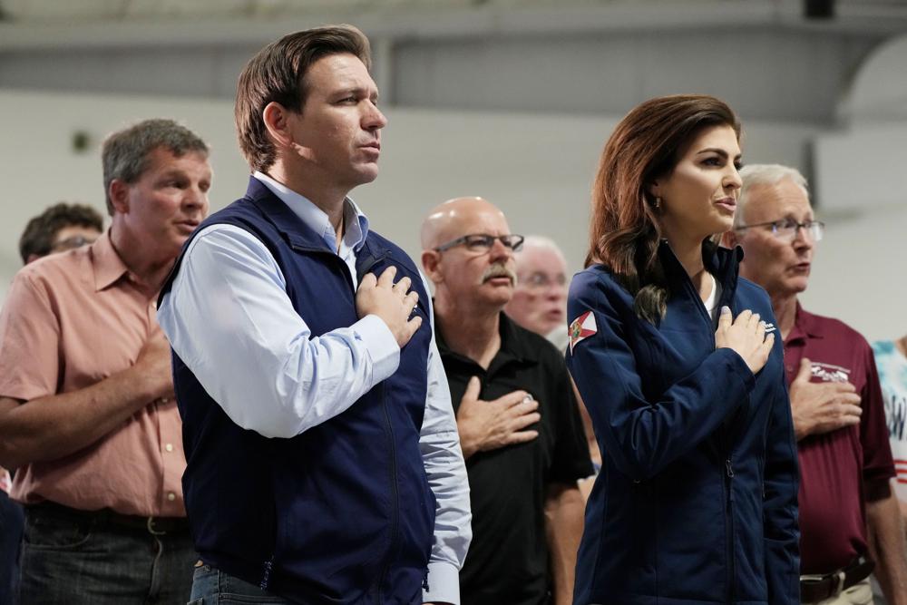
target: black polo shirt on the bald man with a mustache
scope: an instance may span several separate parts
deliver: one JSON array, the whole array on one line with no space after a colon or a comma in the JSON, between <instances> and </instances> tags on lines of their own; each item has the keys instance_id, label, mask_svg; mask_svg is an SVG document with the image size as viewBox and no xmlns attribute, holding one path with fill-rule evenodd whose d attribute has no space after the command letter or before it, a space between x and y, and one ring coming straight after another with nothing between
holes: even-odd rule
<instances>
[{"instance_id":1,"label":"black polo shirt on the bald man with a mustache","mask_svg":"<svg viewBox=\"0 0 907 605\"><path fill-rule=\"evenodd\" d=\"M488 370L435 337L450 384L453 409L470 377L479 398L492 401L522 389L539 402L541 421L527 444L477 452L466 461L473 509L473 542L460 572L463 605L536 605L548 600L550 578L544 503L551 483L575 485L592 464L567 366L545 338L501 314L501 350Z\"/></svg>"}]
</instances>

